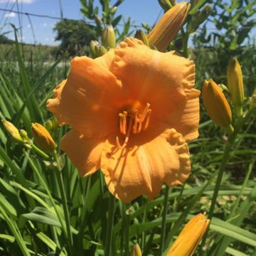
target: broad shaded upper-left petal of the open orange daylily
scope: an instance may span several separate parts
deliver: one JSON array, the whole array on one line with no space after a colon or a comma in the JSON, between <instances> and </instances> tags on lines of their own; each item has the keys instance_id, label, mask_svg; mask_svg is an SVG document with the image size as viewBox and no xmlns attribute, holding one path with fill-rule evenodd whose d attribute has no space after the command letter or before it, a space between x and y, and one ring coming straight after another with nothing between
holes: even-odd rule
<instances>
[{"instance_id":1,"label":"broad shaded upper-left petal of the open orange daylily","mask_svg":"<svg viewBox=\"0 0 256 256\"><path fill-rule=\"evenodd\" d=\"M105 137L112 132L122 102L120 84L107 70L112 53L104 56L74 58L68 80L56 87L55 98L47 102L60 124L70 124L87 137Z\"/></svg>"}]
</instances>

